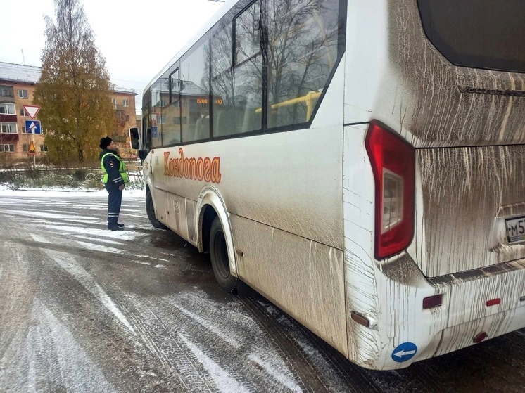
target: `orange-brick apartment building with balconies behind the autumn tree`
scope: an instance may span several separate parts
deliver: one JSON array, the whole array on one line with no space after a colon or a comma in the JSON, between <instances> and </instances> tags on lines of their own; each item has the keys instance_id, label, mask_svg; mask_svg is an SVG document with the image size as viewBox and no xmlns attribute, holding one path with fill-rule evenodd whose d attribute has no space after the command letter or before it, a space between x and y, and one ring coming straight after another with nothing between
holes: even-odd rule
<instances>
[{"instance_id":1,"label":"orange-brick apartment building with balconies behind the autumn tree","mask_svg":"<svg viewBox=\"0 0 525 393\"><path fill-rule=\"evenodd\" d=\"M31 134L25 120L31 120L24 105L34 105L33 94L42 72L41 67L0 62L0 165L27 159L33 141L37 159L45 157L46 124L42 134ZM129 127L135 127L135 93L133 90L111 85L110 100L115 108L115 130L111 138L124 158L133 159L129 144ZM38 120L38 114L35 117Z\"/></svg>"}]
</instances>

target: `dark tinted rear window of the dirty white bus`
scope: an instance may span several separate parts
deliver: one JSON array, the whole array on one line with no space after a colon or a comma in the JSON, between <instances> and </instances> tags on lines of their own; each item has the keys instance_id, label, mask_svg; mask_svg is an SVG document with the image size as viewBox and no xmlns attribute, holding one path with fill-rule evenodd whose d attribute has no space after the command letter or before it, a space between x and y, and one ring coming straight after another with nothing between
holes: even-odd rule
<instances>
[{"instance_id":1,"label":"dark tinted rear window of the dirty white bus","mask_svg":"<svg viewBox=\"0 0 525 393\"><path fill-rule=\"evenodd\" d=\"M525 72L525 0L418 0L426 36L455 65Z\"/></svg>"}]
</instances>

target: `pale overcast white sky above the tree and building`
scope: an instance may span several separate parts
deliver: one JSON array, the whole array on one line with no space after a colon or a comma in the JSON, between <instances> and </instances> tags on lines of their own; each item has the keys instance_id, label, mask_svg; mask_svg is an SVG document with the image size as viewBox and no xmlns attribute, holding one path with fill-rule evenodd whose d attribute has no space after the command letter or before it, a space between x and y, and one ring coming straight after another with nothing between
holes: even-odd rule
<instances>
[{"instance_id":1,"label":"pale overcast white sky above the tree and building","mask_svg":"<svg viewBox=\"0 0 525 393\"><path fill-rule=\"evenodd\" d=\"M111 82L142 90L223 3L209 0L79 0ZM0 61L42 66L44 15L53 0L0 0ZM23 54L22 54L23 51Z\"/></svg>"}]
</instances>

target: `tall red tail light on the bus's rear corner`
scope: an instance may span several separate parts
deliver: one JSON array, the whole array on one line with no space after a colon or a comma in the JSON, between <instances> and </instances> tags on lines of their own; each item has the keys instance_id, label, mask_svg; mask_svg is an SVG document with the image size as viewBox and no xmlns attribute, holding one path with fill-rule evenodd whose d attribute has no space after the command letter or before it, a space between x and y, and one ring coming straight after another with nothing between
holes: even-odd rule
<instances>
[{"instance_id":1,"label":"tall red tail light on the bus's rear corner","mask_svg":"<svg viewBox=\"0 0 525 393\"><path fill-rule=\"evenodd\" d=\"M365 141L376 186L375 257L405 250L414 236L415 149L372 120Z\"/></svg>"}]
</instances>

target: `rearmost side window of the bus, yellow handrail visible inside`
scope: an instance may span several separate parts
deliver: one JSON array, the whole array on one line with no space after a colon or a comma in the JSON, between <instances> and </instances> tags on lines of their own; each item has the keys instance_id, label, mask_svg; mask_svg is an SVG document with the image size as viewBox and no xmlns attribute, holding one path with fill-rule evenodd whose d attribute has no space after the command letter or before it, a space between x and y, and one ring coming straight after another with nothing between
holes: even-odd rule
<instances>
[{"instance_id":1,"label":"rearmost side window of the bus, yellow handrail visible inside","mask_svg":"<svg viewBox=\"0 0 525 393\"><path fill-rule=\"evenodd\" d=\"M338 10L337 0L268 0L269 128L310 120L336 63Z\"/></svg>"}]
</instances>

